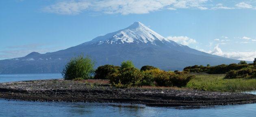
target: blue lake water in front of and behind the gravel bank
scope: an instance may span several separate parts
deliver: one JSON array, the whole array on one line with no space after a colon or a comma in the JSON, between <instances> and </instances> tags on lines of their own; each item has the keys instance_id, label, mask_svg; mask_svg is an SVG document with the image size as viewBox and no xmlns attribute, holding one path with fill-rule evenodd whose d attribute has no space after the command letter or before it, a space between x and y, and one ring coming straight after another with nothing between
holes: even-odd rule
<instances>
[{"instance_id":1,"label":"blue lake water in front of and behind the gravel bank","mask_svg":"<svg viewBox=\"0 0 256 117\"><path fill-rule=\"evenodd\" d=\"M55 78L62 76L61 74L0 74L0 82ZM255 115L256 104L151 107L142 104L28 102L0 99L0 117L255 117Z\"/></svg>"}]
</instances>

